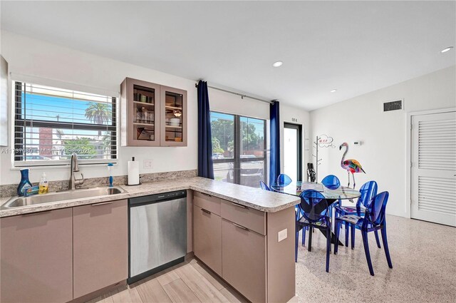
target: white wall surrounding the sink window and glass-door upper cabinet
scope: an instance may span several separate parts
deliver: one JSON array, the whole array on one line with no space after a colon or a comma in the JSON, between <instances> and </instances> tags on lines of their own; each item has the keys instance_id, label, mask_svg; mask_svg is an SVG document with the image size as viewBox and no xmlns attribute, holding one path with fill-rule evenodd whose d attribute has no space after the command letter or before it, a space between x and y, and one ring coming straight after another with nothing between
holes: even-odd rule
<instances>
[{"instance_id":1,"label":"white wall surrounding the sink window and glass-door upper cabinet","mask_svg":"<svg viewBox=\"0 0 456 303\"><path fill-rule=\"evenodd\" d=\"M119 150L119 165L114 175L126 175L132 156L140 161L140 173L155 173L197 168L197 90L195 81L153 71L132 64L103 58L70 48L1 31L1 55L9 63L12 73L61 81L76 86L87 86L100 91L120 91L125 77L138 78L165 86L182 88L188 98L188 145L182 148L133 148ZM11 141L11 140L10 140ZM11 170L11 155L0 155L0 184L19 183L20 173ZM152 169L142 167L142 161L152 159ZM49 180L69 178L69 168L33 168L31 181L39 181L46 171ZM85 178L105 177L107 170L100 166L81 167Z\"/></svg>"}]
</instances>

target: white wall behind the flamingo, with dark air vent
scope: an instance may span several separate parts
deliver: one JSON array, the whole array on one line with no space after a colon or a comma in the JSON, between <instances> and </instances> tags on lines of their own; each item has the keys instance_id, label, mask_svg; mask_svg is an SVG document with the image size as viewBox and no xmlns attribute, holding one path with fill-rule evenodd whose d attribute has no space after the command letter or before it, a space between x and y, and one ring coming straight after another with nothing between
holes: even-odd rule
<instances>
[{"instance_id":1,"label":"white wall behind the flamingo, with dark air vent","mask_svg":"<svg viewBox=\"0 0 456 303\"><path fill-rule=\"evenodd\" d=\"M407 113L456 106L456 67L413 78L363 96L351 98L326 108L311 111L311 137L326 134L334 138L337 148L320 148L319 180L337 175L346 185L347 173L340 166L343 152L338 146L350 145L347 157L358 160L366 170L355 174L356 188L368 180L378 182L379 191L388 190L387 212L410 217L407 199L407 150L410 143ZM383 102L404 99L405 111L383 113ZM361 140L363 145L353 146Z\"/></svg>"}]
</instances>

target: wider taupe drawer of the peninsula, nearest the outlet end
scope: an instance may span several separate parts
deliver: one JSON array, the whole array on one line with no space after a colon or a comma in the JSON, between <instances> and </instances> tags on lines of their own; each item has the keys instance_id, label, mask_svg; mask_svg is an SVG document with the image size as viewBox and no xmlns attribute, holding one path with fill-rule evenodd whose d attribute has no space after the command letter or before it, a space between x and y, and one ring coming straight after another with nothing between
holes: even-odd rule
<instances>
[{"instance_id":1,"label":"wider taupe drawer of the peninsula, nearest the outlet end","mask_svg":"<svg viewBox=\"0 0 456 303\"><path fill-rule=\"evenodd\" d=\"M222 200L222 218L237 223L261 235L266 235L266 213L253 208Z\"/></svg>"}]
</instances>

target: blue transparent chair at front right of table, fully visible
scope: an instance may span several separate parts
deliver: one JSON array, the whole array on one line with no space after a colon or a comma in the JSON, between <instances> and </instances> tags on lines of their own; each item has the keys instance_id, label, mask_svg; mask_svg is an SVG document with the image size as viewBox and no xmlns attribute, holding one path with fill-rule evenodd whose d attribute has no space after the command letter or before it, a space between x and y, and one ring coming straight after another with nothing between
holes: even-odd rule
<instances>
[{"instance_id":1,"label":"blue transparent chair at front right of table, fully visible","mask_svg":"<svg viewBox=\"0 0 456 303\"><path fill-rule=\"evenodd\" d=\"M363 236L364 252L366 253L366 260L368 262L369 272L373 276L373 267L371 261L371 253L369 252L368 244L368 232L374 232L380 230L382 233L383 249L385 250L386 261L388 267L393 268L391 263L390 250L388 249L388 240L386 238L386 220L385 220L385 209L386 203L389 197L388 192L380 192L378 195L372 198L371 202L366 205L364 217L358 215L344 215L336 218L336 241L339 237L339 225L341 222L350 222L357 230L361 230ZM334 255L337 254L338 245L334 246Z\"/></svg>"}]
</instances>

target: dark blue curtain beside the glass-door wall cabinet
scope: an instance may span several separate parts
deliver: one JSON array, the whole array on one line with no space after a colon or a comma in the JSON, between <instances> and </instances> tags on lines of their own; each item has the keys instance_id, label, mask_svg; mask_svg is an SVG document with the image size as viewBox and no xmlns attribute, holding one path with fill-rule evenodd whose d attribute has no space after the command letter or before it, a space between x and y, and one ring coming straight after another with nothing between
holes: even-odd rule
<instances>
[{"instance_id":1,"label":"dark blue curtain beside the glass-door wall cabinet","mask_svg":"<svg viewBox=\"0 0 456 303\"><path fill-rule=\"evenodd\" d=\"M212 163L211 113L207 82L198 82L198 175L214 179Z\"/></svg>"}]
</instances>

